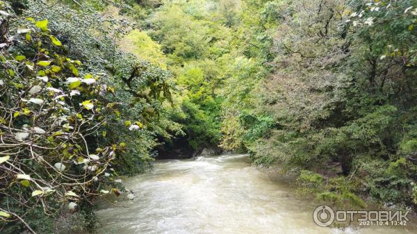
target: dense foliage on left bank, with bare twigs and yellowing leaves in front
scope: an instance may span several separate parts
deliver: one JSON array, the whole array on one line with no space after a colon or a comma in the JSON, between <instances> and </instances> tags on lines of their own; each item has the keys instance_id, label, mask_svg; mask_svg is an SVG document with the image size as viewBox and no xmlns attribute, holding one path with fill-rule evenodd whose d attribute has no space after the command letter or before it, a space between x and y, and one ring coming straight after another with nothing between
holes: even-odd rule
<instances>
[{"instance_id":1,"label":"dense foliage on left bank, with bare twigs and yellowing leaves in front","mask_svg":"<svg viewBox=\"0 0 417 234\"><path fill-rule=\"evenodd\" d=\"M94 1L91 1L94 3ZM117 47L129 22L75 1L0 1L0 232L94 231L167 119L172 74Z\"/></svg>"}]
</instances>

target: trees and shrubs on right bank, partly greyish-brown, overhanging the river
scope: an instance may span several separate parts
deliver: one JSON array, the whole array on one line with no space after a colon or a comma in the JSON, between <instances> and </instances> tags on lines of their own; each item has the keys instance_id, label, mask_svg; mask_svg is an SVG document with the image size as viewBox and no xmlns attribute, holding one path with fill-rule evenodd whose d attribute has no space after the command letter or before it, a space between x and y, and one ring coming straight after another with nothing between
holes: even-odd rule
<instances>
[{"instance_id":1,"label":"trees and shrubs on right bank, partly greyish-brown, overhanging the river","mask_svg":"<svg viewBox=\"0 0 417 234\"><path fill-rule=\"evenodd\" d=\"M319 199L415 207L416 2L389 2L248 1L263 43L247 55L271 73L223 144L307 170L300 185Z\"/></svg>"}]
</instances>

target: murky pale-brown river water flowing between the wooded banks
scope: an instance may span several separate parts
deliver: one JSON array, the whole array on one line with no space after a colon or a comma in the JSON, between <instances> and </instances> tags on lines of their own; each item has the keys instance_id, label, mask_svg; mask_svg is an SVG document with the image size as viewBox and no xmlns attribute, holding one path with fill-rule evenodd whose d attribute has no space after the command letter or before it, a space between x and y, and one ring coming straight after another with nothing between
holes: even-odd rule
<instances>
[{"instance_id":1,"label":"murky pale-brown river water flowing between the wooded banks","mask_svg":"<svg viewBox=\"0 0 417 234\"><path fill-rule=\"evenodd\" d=\"M293 188L245 160L222 155L158 161L153 172L124 182L136 199L98 203L99 233L416 233L411 227L319 227L312 218L319 204L295 197Z\"/></svg>"}]
</instances>

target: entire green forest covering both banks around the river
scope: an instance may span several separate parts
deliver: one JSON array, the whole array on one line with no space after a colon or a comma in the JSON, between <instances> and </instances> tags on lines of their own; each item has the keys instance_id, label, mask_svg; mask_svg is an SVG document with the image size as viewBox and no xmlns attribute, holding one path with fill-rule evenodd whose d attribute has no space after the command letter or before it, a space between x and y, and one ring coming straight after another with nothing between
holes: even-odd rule
<instances>
[{"instance_id":1,"label":"entire green forest covering both banks around the river","mask_svg":"<svg viewBox=\"0 0 417 234\"><path fill-rule=\"evenodd\" d=\"M0 233L96 233L161 158L417 208L417 1L0 1Z\"/></svg>"}]
</instances>

